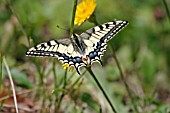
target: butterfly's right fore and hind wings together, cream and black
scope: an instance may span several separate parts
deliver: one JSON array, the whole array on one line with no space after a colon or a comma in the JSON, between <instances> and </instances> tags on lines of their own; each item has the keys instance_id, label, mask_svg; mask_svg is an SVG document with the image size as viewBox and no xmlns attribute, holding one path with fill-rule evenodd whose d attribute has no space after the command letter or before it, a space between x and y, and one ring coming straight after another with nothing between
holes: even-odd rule
<instances>
[{"instance_id":1,"label":"butterfly's right fore and hind wings together, cream and black","mask_svg":"<svg viewBox=\"0 0 170 113\"><path fill-rule=\"evenodd\" d=\"M86 55L90 58L91 64L95 61L102 64L101 56L103 56L104 51L106 51L107 42L127 24L128 21L123 20L107 22L91 28L80 35L84 43L88 45Z\"/></svg>"}]
</instances>

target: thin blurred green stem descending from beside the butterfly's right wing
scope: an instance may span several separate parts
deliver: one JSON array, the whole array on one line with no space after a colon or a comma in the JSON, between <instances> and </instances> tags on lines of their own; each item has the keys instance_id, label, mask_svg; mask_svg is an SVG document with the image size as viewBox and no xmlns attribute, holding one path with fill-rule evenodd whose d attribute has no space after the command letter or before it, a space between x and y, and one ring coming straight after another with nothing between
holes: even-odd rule
<instances>
[{"instance_id":1,"label":"thin blurred green stem descending from beside the butterfly's right wing","mask_svg":"<svg viewBox=\"0 0 170 113\"><path fill-rule=\"evenodd\" d=\"M121 67L120 67L120 63L119 63L119 61L118 61L118 59L117 59L116 53L115 53L115 51L114 51L114 49L113 49L112 47L111 47L111 49L112 49L112 52L113 52L113 57L114 57L114 59L115 59L116 65L117 65L117 67L118 67L118 69L119 69L120 76L121 76L121 78L122 78L122 80L123 80L123 83L124 83L124 85L125 85L125 87L126 87L126 90L127 90L127 92L128 92L128 95L129 95L129 97L130 97L131 100L132 100L134 109L135 109L135 111L136 111L137 113L139 113L139 111L138 111L138 109L137 109L137 106L136 106L136 104L135 104L135 101L134 101L134 99L133 99L132 93L131 93L131 91L130 91L130 88L128 87L128 84L126 83L126 80L125 80L123 71L122 71L122 69L121 69Z\"/></svg>"}]
</instances>

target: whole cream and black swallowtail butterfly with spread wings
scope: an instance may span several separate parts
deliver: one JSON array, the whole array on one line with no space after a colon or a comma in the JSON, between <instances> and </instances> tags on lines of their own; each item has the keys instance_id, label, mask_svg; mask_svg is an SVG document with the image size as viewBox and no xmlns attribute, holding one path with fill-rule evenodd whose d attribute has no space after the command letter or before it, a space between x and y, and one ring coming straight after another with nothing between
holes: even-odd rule
<instances>
[{"instance_id":1,"label":"whole cream and black swallowtail butterfly with spread wings","mask_svg":"<svg viewBox=\"0 0 170 113\"><path fill-rule=\"evenodd\" d=\"M101 57L106 51L107 42L127 24L128 21L114 20L93 27L80 35L73 33L71 38L40 43L30 48L26 56L57 57L63 64L74 66L80 75L80 67L96 61L102 64Z\"/></svg>"}]
</instances>

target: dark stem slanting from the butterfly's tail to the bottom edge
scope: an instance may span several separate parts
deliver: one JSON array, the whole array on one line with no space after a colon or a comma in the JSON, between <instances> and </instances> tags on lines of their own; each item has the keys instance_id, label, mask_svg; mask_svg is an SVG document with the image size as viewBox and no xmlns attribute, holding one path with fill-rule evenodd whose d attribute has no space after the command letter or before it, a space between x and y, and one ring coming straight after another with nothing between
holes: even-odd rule
<instances>
[{"instance_id":1,"label":"dark stem slanting from the butterfly's tail to the bottom edge","mask_svg":"<svg viewBox=\"0 0 170 113\"><path fill-rule=\"evenodd\" d=\"M102 91L103 95L105 96L107 102L109 103L110 107L112 108L114 113L117 113L113 104L111 103L109 97L107 96L107 94L105 93L103 87L100 85L100 82L97 80L96 76L94 75L93 71L91 70L90 67L86 67L86 69L89 71L89 73L91 74L91 76L93 77L94 81L97 83L97 86L100 88L100 90Z\"/></svg>"}]
</instances>

